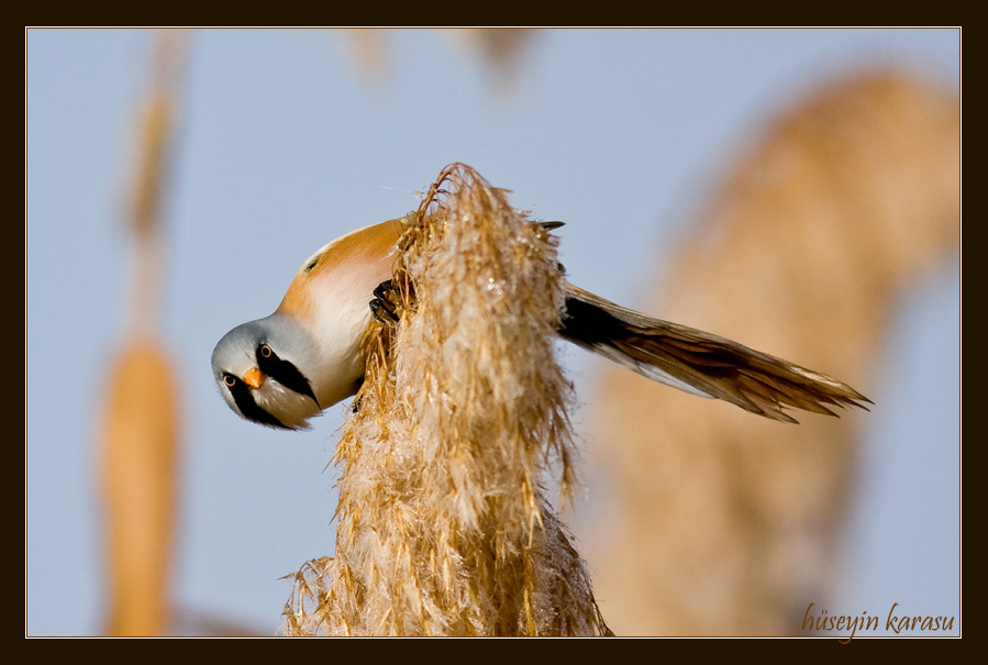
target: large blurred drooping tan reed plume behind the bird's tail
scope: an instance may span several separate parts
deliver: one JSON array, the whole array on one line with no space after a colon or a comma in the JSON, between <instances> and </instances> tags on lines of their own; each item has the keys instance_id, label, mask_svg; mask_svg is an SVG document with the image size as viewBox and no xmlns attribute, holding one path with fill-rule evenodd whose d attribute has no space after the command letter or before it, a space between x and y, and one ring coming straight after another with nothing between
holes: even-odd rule
<instances>
[{"instance_id":1,"label":"large blurred drooping tan reed plume behind the bird's tail","mask_svg":"<svg viewBox=\"0 0 988 665\"><path fill-rule=\"evenodd\" d=\"M899 297L958 259L959 146L956 96L909 74L818 89L646 276L667 289L644 311L873 394ZM612 367L589 401L614 496L584 540L614 630L799 633L835 586L862 415L779 426Z\"/></svg>"}]
</instances>

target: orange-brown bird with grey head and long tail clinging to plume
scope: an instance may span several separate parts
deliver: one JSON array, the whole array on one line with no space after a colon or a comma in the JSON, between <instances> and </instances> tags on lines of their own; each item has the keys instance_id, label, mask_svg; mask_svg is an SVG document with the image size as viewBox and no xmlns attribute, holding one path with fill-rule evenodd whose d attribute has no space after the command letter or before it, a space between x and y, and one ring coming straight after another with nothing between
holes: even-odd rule
<instances>
[{"instance_id":1,"label":"orange-brown bird with grey head and long tail clinging to plume","mask_svg":"<svg viewBox=\"0 0 988 665\"><path fill-rule=\"evenodd\" d=\"M302 264L275 313L220 340L212 369L231 409L263 425L306 429L310 418L357 392L360 340L371 308L381 306L400 234L400 221L391 220L334 240ZM650 379L774 420L796 422L785 407L835 415L828 406L872 403L823 374L569 284L557 332Z\"/></svg>"}]
</instances>

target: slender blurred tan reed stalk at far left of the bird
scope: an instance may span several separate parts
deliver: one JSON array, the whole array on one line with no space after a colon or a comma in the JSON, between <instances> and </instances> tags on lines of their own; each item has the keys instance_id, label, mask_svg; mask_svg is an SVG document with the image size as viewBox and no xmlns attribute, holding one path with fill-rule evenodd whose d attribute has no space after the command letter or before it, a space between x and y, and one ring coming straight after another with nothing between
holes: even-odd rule
<instances>
[{"instance_id":1,"label":"slender blurred tan reed stalk at far left of the bird","mask_svg":"<svg viewBox=\"0 0 988 665\"><path fill-rule=\"evenodd\" d=\"M169 624L168 587L178 470L178 390L155 340L162 280L162 199L185 35L162 31L140 115L129 206L133 274L127 325L110 361L102 414L107 625L112 635L157 635Z\"/></svg>"}]
</instances>

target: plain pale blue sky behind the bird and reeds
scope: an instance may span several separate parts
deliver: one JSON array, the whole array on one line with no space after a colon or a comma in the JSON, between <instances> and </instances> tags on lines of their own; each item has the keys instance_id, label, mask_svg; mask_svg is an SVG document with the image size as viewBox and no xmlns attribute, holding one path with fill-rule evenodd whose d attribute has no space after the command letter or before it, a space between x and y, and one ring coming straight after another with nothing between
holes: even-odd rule
<instances>
[{"instance_id":1,"label":"plain pale blue sky behind the bird and reeds","mask_svg":"<svg viewBox=\"0 0 988 665\"><path fill-rule=\"evenodd\" d=\"M26 34L29 634L101 627L93 414L124 320L123 204L153 38ZM959 91L956 30L545 31L511 86L434 31L387 38L386 75L368 85L335 32L191 35L160 328L185 392L175 599L260 634L288 598L279 577L333 551L324 467L344 407L307 433L252 425L218 396L209 358L274 310L314 250L403 214L465 162L517 207L566 221L573 281L633 304L656 247L803 92L889 63ZM959 315L955 265L903 302L889 336L835 592L847 613L959 613ZM565 358L589 388L596 361Z\"/></svg>"}]
</instances>

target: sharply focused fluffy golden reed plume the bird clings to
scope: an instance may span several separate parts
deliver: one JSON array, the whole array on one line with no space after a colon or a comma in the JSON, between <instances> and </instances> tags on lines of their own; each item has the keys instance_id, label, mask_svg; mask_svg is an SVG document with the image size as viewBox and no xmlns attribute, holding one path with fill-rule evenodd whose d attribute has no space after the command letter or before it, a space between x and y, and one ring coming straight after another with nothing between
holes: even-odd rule
<instances>
[{"instance_id":1,"label":"sharply focused fluffy golden reed plume the bird clings to","mask_svg":"<svg viewBox=\"0 0 988 665\"><path fill-rule=\"evenodd\" d=\"M464 165L404 226L400 321L368 331L334 456L336 553L296 574L284 630L606 634L542 486L551 461L573 481L555 240Z\"/></svg>"}]
</instances>

